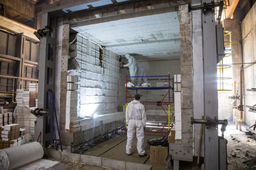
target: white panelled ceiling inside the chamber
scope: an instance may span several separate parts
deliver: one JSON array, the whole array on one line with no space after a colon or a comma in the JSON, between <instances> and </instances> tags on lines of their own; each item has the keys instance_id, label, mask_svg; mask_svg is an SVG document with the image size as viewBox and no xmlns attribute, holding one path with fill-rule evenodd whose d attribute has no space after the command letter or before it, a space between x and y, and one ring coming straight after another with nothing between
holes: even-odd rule
<instances>
[{"instance_id":1,"label":"white panelled ceiling inside the chamber","mask_svg":"<svg viewBox=\"0 0 256 170\"><path fill-rule=\"evenodd\" d=\"M118 55L140 61L180 58L177 12L142 16L72 28Z\"/></svg>"}]
</instances>

